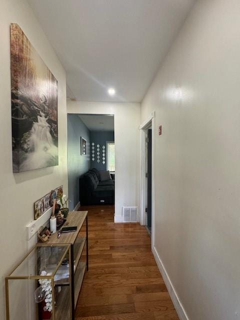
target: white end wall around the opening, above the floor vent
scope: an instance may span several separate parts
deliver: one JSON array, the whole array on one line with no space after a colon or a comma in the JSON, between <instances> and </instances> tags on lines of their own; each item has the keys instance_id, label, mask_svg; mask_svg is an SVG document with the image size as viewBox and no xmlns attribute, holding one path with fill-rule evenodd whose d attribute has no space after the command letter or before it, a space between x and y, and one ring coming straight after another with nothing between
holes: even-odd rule
<instances>
[{"instance_id":1,"label":"white end wall around the opening, above the floor vent","mask_svg":"<svg viewBox=\"0 0 240 320\"><path fill-rule=\"evenodd\" d=\"M120 221L123 205L139 206L140 106L67 100L67 113L114 114L115 221Z\"/></svg>"}]
</instances>

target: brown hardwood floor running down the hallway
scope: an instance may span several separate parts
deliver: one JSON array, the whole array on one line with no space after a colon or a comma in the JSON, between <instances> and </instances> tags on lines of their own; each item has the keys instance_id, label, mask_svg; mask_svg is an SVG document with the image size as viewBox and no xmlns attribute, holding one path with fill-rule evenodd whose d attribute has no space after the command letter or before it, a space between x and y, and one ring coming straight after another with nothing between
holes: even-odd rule
<instances>
[{"instance_id":1,"label":"brown hardwood floor running down the hallway","mask_svg":"<svg viewBox=\"0 0 240 320\"><path fill-rule=\"evenodd\" d=\"M114 223L113 206L88 210L89 270L76 320L177 320L178 316L138 223Z\"/></svg>"}]
</instances>

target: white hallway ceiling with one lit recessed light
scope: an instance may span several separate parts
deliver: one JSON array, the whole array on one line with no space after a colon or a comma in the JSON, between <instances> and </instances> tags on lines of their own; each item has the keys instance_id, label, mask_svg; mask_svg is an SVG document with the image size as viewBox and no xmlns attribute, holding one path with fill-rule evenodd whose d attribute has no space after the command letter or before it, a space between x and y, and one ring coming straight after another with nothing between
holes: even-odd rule
<instances>
[{"instance_id":1,"label":"white hallway ceiling with one lit recessed light","mask_svg":"<svg viewBox=\"0 0 240 320\"><path fill-rule=\"evenodd\" d=\"M140 102L194 0L28 2L66 70L69 97Z\"/></svg>"}]
</instances>

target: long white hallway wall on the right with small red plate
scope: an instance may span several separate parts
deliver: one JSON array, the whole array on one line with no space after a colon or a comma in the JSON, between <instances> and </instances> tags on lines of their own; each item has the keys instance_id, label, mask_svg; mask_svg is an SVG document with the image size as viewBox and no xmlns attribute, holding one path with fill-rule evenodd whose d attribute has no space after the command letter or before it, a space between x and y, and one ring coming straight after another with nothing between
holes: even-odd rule
<instances>
[{"instance_id":1,"label":"long white hallway wall on the right with small red plate","mask_svg":"<svg viewBox=\"0 0 240 320\"><path fill-rule=\"evenodd\" d=\"M196 1L141 104L141 122L156 111L154 245L191 320L240 318L239 16L238 0Z\"/></svg>"}]
</instances>

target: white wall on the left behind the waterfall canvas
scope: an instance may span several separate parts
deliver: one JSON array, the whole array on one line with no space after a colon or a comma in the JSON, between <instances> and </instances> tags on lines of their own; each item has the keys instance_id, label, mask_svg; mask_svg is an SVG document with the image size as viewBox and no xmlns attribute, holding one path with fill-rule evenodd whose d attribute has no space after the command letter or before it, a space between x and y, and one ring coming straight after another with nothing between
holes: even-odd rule
<instances>
[{"instance_id":1,"label":"white wall on the left behind the waterfall canvas","mask_svg":"<svg viewBox=\"0 0 240 320\"><path fill-rule=\"evenodd\" d=\"M14 174L11 160L10 22L19 24L58 80L59 165ZM3 277L27 250L25 225L33 220L33 202L60 184L67 193L66 83L64 69L27 1L0 1L0 30L0 319L4 319ZM22 292L19 294L23 296ZM20 314L18 316L22 318Z\"/></svg>"}]
</instances>

